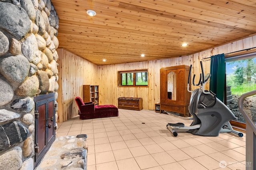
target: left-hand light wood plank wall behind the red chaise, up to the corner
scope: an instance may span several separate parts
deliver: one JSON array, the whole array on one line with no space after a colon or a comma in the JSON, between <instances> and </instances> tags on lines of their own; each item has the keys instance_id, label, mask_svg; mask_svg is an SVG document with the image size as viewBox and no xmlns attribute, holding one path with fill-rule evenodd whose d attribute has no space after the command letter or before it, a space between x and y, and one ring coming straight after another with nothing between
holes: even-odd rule
<instances>
[{"instance_id":1,"label":"left-hand light wood plank wall behind the red chaise, up to the corner","mask_svg":"<svg viewBox=\"0 0 256 170\"><path fill-rule=\"evenodd\" d=\"M78 115L74 98L80 96L83 99L84 84L96 84L96 79L99 80L95 75L98 66L65 49L57 49L57 52L59 55L58 122L63 122Z\"/></svg>"}]
</instances>

